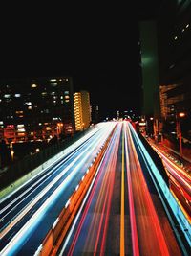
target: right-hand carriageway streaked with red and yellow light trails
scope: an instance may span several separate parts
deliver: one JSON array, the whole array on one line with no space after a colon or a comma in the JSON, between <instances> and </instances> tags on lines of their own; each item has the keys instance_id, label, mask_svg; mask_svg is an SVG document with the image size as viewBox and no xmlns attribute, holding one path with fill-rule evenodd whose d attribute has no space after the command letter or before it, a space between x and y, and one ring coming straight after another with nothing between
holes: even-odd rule
<instances>
[{"instance_id":1,"label":"right-hand carriageway streaked with red and yellow light trails","mask_svg":"<svg viewBox=\"0 0 191 256\"><path fill-rule=\"evenodd\" d=\"M182 255L129 123L119 123L58 255Z\"/></svg>"}]
</instances>

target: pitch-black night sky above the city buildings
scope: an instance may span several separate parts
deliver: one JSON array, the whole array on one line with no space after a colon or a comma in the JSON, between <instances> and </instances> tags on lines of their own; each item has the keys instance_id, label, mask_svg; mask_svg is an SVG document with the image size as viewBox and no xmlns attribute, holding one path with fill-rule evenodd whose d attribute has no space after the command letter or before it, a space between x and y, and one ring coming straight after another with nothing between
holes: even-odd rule
<instances>
[{"instance_id":1,"label":"pitch-black night sky above the city buildings","mask_svg":"<svg viewBox=\"0 0 191 256\"><path fill-rule=\"evenodd\" d=\"M12 7L0 77L72 76L74 91L88 90L102 113L139 111L138 21L153 18L161 1L129 2Z\"/></svg>"}]
</instances>

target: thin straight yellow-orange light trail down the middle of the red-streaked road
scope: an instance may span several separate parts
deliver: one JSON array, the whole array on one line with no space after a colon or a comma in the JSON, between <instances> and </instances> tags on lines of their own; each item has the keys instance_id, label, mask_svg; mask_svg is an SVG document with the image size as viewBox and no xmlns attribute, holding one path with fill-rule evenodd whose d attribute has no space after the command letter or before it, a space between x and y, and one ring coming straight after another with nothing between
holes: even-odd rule
<instances>
[{"instance_id":1,"label":"thin straight yellow-orange light trail down the middle of the red-streaked road","mask_svg":"<svg viewBox=\"0 0 191 256\"><path fill-rule=\"evenodd\" d=\"M121 176L121 203L120 203L120 255L125 255L125 198L124 198L124 130L122 131L122 176Z\"/></svg>"}]
</instances>

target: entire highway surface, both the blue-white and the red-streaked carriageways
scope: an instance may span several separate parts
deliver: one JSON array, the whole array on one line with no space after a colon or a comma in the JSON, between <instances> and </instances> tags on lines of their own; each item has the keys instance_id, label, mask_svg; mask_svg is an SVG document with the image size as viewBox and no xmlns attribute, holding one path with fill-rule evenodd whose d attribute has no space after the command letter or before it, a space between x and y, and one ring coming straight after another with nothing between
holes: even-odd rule
<instances>
[{"instance_id":1,"label":"entire highway surface, both the blue-white and the red-streaked carriageways","mask_svg":"<svg viewBox=\"0 0 191 256\"><path fill-rule=\"evenodd\" d=\"M52 255L183 255L127 121L101 123L74 151L4 198L0 255L43 255L44 238L108 139L88 192ZM185 248L183 253L189 255Z\"/></svg>"}]
</instances>

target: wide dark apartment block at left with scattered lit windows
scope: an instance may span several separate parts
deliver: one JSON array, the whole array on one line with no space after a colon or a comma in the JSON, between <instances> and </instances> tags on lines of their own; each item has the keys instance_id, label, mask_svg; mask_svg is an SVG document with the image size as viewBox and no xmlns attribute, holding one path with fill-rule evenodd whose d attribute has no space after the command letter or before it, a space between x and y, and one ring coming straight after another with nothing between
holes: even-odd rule
<instances>
[{"instance_id":1,"label":"wide dark apartment block at left with scattered lit windows","mask_svg":"<svg viewBox=\"0 0 191 256\"><path fill-rule=\"evenodd\" d=\"M1 80L1 137L19 142L73 134L73 94L71 77Z\"/></svg>"}]
</instances>

